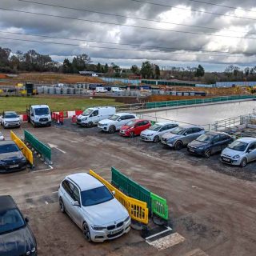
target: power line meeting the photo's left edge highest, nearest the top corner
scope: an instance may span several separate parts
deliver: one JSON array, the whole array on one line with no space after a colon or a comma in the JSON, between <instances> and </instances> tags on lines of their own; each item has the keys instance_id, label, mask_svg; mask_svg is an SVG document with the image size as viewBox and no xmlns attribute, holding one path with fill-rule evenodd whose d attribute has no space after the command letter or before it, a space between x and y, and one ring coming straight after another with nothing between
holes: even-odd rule
<instances>
[{"instance_id":1,"label":"power line meeting the photo's left edge highest, nearest the top corner","mask_svg":"<svg viewBox=\"0 0 256 256\"><path fill-rule=\"evenodd\" d=\"M131 0L131 1L135 1L135 0ZM221 34L208 34L208 33L182 31L182 30L165 30L165 29L153 28L153 27L148 27L148 26L135 26L135 25L128 25L128 24L120 24L120 23L116 23L116 22L94 21L94 20L90 20L90 19L72 18L72 17L60 16L60 15L54 15L54 14L42 14L42 13L25 11L25 10L7 9L7 8L2 8L2 7L0 7L0 10L14 11L14 12L23 13L23 14L36 14L36 15L54 17L54 18L66 18L66 19L78 20L78 21L82 21L82 22L94 22L94 23L108 24L108 25L115 25L115 26L128 26L128 27L146 29L146 30L159 30L159 31L182 33L182 34L201 34L201 35L210 35L210 36L219 37L219 38L240 38L240 39L252 39L252 40L256 39L256 38L250 38L250 37L238 37L238 36L221 35Z\"/></svg>"}]
</instances>

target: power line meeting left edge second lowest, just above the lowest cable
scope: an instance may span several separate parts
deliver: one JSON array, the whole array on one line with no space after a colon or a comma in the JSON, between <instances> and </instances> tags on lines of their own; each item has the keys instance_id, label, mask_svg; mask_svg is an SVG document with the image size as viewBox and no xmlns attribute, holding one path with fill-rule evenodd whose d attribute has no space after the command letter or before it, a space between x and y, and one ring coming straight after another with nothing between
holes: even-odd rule
<instances>
[{"instance_id":1,"label":"power line meeting left edge second lowest, just above the lowest cable","mask_svg":"<svg viewBox=\"0 0 256 256\"><path fill-rule=\"evenodd\" d=\"M79 41L79 42L81 42L81 41L94 42L94 43L112 44L112 45L118 45L118 46L137 46L137 47L153 48L153 49L159 49L159 50L187 50L187 51L194 51L194 52L196 51L196 50L180 49L180 48L167 47L167 46L146 46L146 45L128 44L128 43L120 43L120 42L103 42L103 41L87 40L85 38L62 38L62 37L54 37L54 36L50 36L50 35L45 35L45 34L27 34L27 33L21 33L21 32L10 32L10 31L2 31L2 30L0 30L0 33L18 34L18 35L26 35L26 36L32 36L32 37L41 37L41 38L64 39L64 40L72 40L72 41ZM218 50L197 50L197 52L218 53L218 54L256 55L256 53L243 53L243 52L229 53L226 51L218 51ZM216 56L216 55L213 55L213 56ZM222 56L229 57L229 55L222 55ZM241 57L241 56L233 56L233 57ZM248 57L254 57L254 56L248 56Z\"/></svg>"}]
</instances>

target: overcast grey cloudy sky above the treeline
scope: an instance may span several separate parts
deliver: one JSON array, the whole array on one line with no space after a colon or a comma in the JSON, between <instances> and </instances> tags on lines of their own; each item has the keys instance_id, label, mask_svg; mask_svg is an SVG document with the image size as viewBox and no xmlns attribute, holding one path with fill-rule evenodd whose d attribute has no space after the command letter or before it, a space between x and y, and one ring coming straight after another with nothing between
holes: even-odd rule
<instances>
[{"instance_id":1,"label":"overcast grey cloudy sky above the treeline","mask_svg":"<svg viewBox=\"0 0 256 256\"><path fill-rule=\"evenodd\" d=\"M197 66L199 63L202 64L206 70L224 70L224 68L230 64L241 66L242 68L245 66L256 66L256 55L239 54L256 53L256 2L254 0L201 0L200 2L189 0L145 0L145 2L161 3L180 9L156 6L145 2L134 2L132 0L28 1L92 10L108 14L118 14L132 18L97 14L81 10L69 10L53 6L42 6L18 0L1 0L0 8L80 19L55 18L39 14L25 14L10 10L0 10L1 47L8 47L14 52L16 50L25 52L34 49L41 54L50 54L55 61L59 62L62 62L64 58L71 59L75 54L86 53L90 55L95 63L115 62L120 66L126 67L130 67L133 64L141 66L141 63L145 60L150 60L150 62L154 62L166 68L169 66ZM214 4L233 6L235 8L211 6L202 2L213 2ZM246 11L245 9L251 11ZM192 10L226 14L226 16L194 12ZM232 18L228 15L244 18ZM134 18L151 19L160 22L143 21ZM96 22L85 22L81 19L89 19ZM99 22L110 22L129 26ZM173 23L197 27L181 26ZM150 27L154 30L135 28L132 26ZM202 28L202 26L208 28ZM178 30L183 33L166 30ZM40 34L58 38L77 38L78 40L73 41L68 39L6 34L3 33L4 31L22 34ZM184 32L201 34L187 34ZM63 42L77 46L12 41L3 38ZM113 45L88 41L114 42L127 45ZM141 47L130 45L138 45ZM94 48L89 46L94 46ZM155 48L147 48L146 46L154 46ZM98 47L114 47L125 50L110 50ZM161 49L161 47L167 47L169 49ZM139 51L138 48L143 51ZM224 51L233 53L233 55L228 54L228 56L226 56L227 54L206 53L206 50ZM209 56L206 54L217 54L218 56Z\"/></svg>"}]
</instances>

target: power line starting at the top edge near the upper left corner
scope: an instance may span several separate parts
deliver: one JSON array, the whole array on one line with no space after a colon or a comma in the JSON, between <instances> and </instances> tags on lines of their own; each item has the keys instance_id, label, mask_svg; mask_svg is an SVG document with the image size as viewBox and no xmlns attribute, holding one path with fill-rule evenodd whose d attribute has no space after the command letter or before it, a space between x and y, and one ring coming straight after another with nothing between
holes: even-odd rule
<instances>
[{"instance_id":1,"label":"power line starting at the top edge near the upper left corner","mask_svg":"<svg viewBox=\"0 0 256 256\"><path fill-rule=\"evenodd\" d=\"M29 2L29 3L33 3L33 4L41 5L41 6L58 7L58 8L63 8L63 9L67 9L67 10L79 10L79 11L83 11L83 12L87 12L87 13L104 14L104 15L109 15L109 16L114 16L114 17L133 18L133 19L137 19L137 20L141 20L141 21L146 21L146 22L158 22L158 23L163 23L163 24L172 24L172 25L178 25L178 26L188 26L188 27L202 28L202 29L207 29L207 30L219 30L218 28L214 28L214 27L194 26L194 25L187 25L187 24L175 23L175 22L162 22L162 21L155 20L155 19L138 18L138 17L121 15L121 14L110 14L110 13L101 12L101 11L97 11L97 10L78 9L78 8L74 8L74 7L59 6L59 5L48 4L48 3L43 3L43 2L34 2L34 1L29 1L29 0L17 0L17 1L19 1L19 2ZM239 32L237 30L222 30L222 31L235 32L235 33ZM246 32L242 32L242 33L246 34Z\"/></svg>"}]
</instances>

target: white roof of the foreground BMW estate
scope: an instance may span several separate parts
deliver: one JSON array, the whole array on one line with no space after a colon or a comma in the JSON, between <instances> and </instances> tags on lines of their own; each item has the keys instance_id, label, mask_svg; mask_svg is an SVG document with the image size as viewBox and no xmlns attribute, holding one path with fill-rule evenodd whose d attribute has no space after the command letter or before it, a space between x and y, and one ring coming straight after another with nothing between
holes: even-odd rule
<instances>
[{"instance_id":1,"label":"white roof of the foreground BMW estate","mask_svg":"<svg viewBox=\"0 0 256 256\"><path fill-rule=\"evenodd\" d=\"M86 173L70 174L66 176L66 178L70 179L76 185L78 185L81 191L91 190L100 186L104 186L102 182L98 181L97 178L94 178L90 174Z\"/></svg>"}]
</instances>

